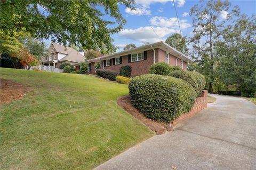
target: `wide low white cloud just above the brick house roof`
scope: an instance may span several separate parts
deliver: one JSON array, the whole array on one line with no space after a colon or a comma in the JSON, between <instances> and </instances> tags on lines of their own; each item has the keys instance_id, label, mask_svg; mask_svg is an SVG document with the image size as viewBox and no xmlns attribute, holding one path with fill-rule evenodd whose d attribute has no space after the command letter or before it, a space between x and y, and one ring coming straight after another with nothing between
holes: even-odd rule
<instances>
[{"instance_id":1,"label":"wide low white cloud just above the brick house roof","mask_svg":"<svg viewBox=\"0 0 256 170\"><path fill-rule=\"evenodd\" d=\"M178 33L177 29L170 29L167 27L153 27L154 31L151 29L151 27L140 27L137 29L123 29L118 33L118 36L121 38L127 38L132 39L134 41L140 41L140 42L159 42L164 41L164 37L166 35L169 35L171 33ZM159 38L158 38L158 37Z\"/></svg>"}]
</instances>

